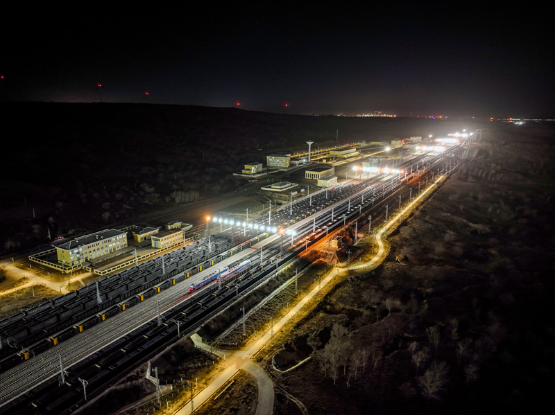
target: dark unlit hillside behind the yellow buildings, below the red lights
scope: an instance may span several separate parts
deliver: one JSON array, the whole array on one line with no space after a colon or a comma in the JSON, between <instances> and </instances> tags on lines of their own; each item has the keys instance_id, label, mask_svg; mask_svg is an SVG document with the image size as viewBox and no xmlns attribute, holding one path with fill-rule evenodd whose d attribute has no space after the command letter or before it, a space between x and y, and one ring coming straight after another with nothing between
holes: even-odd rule
<instances>
[{"instance_id":1,"label":"dark unlit hillside behind the yellow buildings, below the red lights","mask_svg":"<svg viewBox=\"0 0 555 415\"><path fill-rule=\"evenodd\" d=\"M237 108L139 104L9 103L0 251L132 222L137 215L235 191L231 175L305 141L389 141L460 129L456 121L347 118ZM259 149L263 150L259 150ZM314 148L314 147L313 147ZM34 209L34 218L33 218Z\"/></svg>"}]
</instances>

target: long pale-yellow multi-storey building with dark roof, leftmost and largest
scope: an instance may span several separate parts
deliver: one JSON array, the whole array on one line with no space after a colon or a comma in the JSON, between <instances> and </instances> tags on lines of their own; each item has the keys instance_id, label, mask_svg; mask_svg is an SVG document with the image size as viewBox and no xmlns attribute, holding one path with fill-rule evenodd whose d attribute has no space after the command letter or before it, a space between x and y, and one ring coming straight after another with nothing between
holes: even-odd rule
<instances>
[{"instance_id":1,"label":"long pale-yellow multi-storey building with dark roof, leftmost and largest","mask_svg":"<svg viewBox=\"0 0 555 415\"><path fill-rule=\"evenodd\" d=\"M58 263L65 266L79 265L127 247L127 233L117 229L105 229L54 247Z\"/></svg>"}]
</instances>

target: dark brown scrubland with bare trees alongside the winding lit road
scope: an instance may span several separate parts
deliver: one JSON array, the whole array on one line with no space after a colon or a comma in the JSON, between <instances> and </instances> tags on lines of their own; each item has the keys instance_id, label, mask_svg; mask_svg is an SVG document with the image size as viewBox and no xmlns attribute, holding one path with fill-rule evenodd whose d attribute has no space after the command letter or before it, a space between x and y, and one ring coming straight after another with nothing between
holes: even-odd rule
<instances>
[{"instance_id":1,"label":"dark brown scrubland with bare trees alongside the winding lit road","mask_svg":"<svg viewBox=\"0 0 555 415\"><path fill-rule=\"evenodd\" d=\"M545 134L484 133L465 164L390 236L390 261L338 283L276 336L259 357L275 383L275 414L301 413L286 393L311 414L542 407L555 368L554 147ZM317 275L307 271L301 285ZM248 334L293 302L288 290L249 317ZM240 343L242 328L222 341ZM309 359L282 372L276 356L286 366ZM198 413L254 413L255 389L237 382Z\"/></svg>"}]
</instances>

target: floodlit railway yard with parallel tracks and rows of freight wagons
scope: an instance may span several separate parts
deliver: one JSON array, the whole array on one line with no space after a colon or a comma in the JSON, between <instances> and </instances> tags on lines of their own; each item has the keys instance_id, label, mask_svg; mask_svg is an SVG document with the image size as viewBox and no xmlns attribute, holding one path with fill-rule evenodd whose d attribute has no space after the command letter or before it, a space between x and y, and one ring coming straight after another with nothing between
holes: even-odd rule
<instances>
[{"instance_id":1,"label":"floodlit railway yard with parallel tracks and rows of freight wagons","mask_svg":"<svg viewBox=\"0 0 555 415\"><path fill-rule=\"evenodd\" d=\"M372 233L465 148L398 159L0 321L0 413L69 414L106 385L286 270L311 246L355 225ZM208 227L208 225L207 225ZM221 229L221 231L219 229ZM350 259L350 258L349 258ZM247 310L248 311L248 310Z\"/></svg>"}]
</instances>

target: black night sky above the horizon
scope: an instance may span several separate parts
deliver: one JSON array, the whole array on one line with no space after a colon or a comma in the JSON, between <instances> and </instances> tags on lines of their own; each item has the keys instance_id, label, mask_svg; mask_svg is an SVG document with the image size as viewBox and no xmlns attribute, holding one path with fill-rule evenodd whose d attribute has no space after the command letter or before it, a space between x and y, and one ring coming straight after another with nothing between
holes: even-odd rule
<instances>
[{"instance_id":1,"label":"black night sky above the horizon","mask_svg":"<svg viewBox=\"0 0 555 415\"><path fill-rule=\"evenodd\" d=\"M418 3L172 2L125 13L101 3L86 12L3 6L1 94L239 102L291 114L555 117L547 10Z\"/></svg>"}]
</instances>

